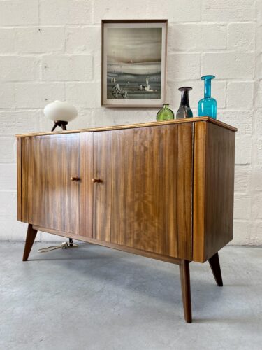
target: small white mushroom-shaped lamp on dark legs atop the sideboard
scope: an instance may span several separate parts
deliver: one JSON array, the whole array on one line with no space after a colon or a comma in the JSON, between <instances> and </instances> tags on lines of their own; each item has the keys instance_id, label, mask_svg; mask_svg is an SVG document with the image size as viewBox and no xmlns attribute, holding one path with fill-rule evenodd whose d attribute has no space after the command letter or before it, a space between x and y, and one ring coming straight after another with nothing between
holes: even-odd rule
<instances>
[{"instance_id":1,"label":"small white mushroom-shaped lamp on dark legs atop the sideboard","mask_svg":"<svg viewBox=\"0 0 262 350\"><path fill-rule=\"evenodd\" d=\"M78 111L74 106L69 104L66 101L54 101L50 104L47 104L43 110L45 117L53 120L54 126L52 131L57 127L61 127L63 130L66 130L66 125L71 120L75 119L78 116Z\"/></svg>"}]
</instances>

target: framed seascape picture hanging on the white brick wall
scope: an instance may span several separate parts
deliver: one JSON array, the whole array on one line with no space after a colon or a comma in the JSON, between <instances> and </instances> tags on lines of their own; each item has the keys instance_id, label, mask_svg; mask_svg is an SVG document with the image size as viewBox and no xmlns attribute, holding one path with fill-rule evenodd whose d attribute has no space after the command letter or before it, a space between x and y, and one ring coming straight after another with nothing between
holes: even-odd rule
<instances>
[{"instance_id":1,"label":"framed seascape picture hanging on the white brick wall","mask_svg":"<svg viewBox=\"0 0 262 350\"><path fill-rule=\"evenodd\" d=\"M102 106L159 107L166 94L167 20L102 20Z\"/></svg>"}]
</instances>

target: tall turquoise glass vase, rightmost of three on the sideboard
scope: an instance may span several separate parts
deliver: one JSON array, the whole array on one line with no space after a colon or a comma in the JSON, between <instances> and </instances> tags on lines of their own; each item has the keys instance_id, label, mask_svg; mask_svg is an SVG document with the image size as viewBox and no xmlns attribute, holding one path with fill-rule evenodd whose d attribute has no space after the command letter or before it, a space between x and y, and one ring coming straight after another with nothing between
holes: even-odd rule
<instances>
[{"instance_id":1,"label":"tall turquoise glass vase, rightmost of three on the sideboard","mask_svg":"<svg viewBox=\"0 0 262 350\"><path fill-rule=\"evenodd\" d=\"M208 116L217 119L217 101L211 97L211 80L215 76L201 76L205 80L205 95L198 102L198 116Z\"/></svg>"}]
</instances>

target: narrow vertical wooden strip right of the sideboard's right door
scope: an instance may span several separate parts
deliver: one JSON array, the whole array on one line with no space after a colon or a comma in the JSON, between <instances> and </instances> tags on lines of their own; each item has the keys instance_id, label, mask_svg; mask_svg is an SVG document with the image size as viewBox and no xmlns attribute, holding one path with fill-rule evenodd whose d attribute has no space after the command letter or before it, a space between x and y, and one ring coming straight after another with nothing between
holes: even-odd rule
<instances>
[{"instance_id":1,"label":"narrow vertical wooden strip right of the sideboard's right door","mask_svg":"<svg viewBox=\"0 0 262 350\"><path fill-rule=\"evenodd\" d=\"M194 125L193 260L204 261L206 123Z\"/></svg>"}]
</instances>

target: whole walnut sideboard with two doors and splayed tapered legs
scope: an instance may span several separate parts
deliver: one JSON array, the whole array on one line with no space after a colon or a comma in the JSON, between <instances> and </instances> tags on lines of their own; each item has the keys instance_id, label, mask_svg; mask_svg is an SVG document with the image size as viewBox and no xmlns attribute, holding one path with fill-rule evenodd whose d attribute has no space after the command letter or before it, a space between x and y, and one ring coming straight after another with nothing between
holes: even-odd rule
<instances>
[{"instance_id":1,"label":"whole walnut sideboard with two doors and splayed tapered legs","mask_svg":"<svg viewBox=\"0 0 262 350\"><path fill-rule=\"evenodd\" d=\"M191 323L189 262L233 238L234 127L201 117L17 135L17 218L38 230L180 266Z\"/></svg>"}]
</instances>

